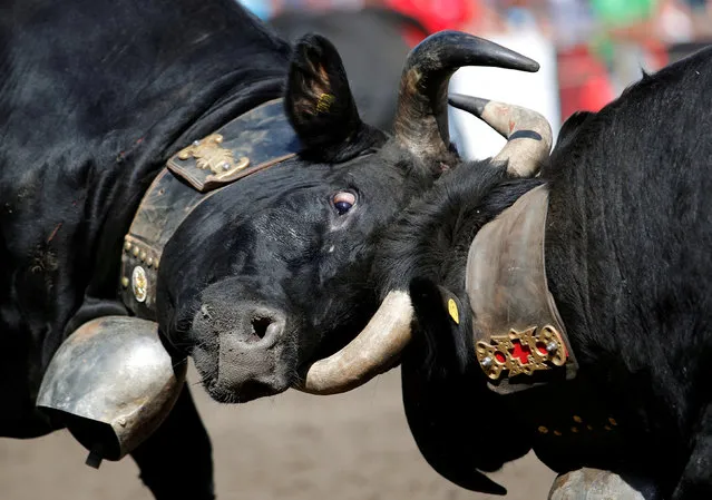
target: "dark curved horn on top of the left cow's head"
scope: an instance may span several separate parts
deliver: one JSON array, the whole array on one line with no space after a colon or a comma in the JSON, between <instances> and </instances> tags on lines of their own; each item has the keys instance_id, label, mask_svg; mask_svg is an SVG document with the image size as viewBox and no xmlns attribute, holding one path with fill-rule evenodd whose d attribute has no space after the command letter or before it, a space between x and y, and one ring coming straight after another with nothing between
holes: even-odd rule
<instances>
[{"instance_id":1,"label":"dark curved horn on top of the left cow's head","mask_svg":"<svg viewBox=\"0 0 712 500\"><path fill-rule=\"evenodd\" d=\"M408 55L400 81L396 139L423 161L448 157L448 82L462 66L538 71L539 65L495 42L459 31L440 31Z\"/></svg>"}]
</instances>

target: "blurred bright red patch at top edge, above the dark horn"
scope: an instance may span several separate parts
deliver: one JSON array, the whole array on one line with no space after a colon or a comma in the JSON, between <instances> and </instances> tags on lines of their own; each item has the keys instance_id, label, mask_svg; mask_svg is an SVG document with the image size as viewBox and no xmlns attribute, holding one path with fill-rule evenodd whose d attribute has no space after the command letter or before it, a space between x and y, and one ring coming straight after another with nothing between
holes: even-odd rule
<instances>
[{"instance_id":1,"label":"blurred bright red patch at top edge, above the dark horn","mask_svg":"<svg viewBox=\"0 0 712 500\"><path fill-rule=\"evenodd\" d=\"M429 32L458 29L479 14L477 0L386 0L386 6L417 19ZM411 46L425 37L418 30L408 30Z\"/></svg>"}]
</instances>

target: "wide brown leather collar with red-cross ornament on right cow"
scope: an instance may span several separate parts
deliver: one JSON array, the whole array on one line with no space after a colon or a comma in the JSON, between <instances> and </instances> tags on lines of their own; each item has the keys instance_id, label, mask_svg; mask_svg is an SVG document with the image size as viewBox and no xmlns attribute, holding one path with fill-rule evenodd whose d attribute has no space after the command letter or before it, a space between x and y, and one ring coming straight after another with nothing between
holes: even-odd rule
<instances>
[{"instance_id":1,"label":"wide brown leather collar with red-cross ornament on right cow","mask_svg":"<svg viewBox=\"0 0 712 500\"><path fill-rule=\"evenodd\" d=\"M500 394L570 380L577 371L546 280L547 212L542 185L486 224L468 253L475 351L488 386Z\"/></svg>"}]
</instances>

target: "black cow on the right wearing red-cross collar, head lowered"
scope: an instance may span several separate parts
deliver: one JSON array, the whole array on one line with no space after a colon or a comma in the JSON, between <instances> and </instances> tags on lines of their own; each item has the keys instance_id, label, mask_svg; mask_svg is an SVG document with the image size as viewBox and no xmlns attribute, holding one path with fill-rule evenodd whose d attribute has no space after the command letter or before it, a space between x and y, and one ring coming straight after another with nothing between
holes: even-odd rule
<instances>
[{"instance_id":1,"label":"black cow on the right wearing red-cross collar, head lowered","mask_svg":"<svg viewBox=\"0 0 712 500\"><path fill-rule=\"evenodd\" d=\"M420 451L477 491L505 493L481 472L533 449L648 499L711 498L712 50L573 116L550 158L540 120L451 104L513 140L442 176L377 256L382 307L413 314L402 388Z\"/></svg>"}]
</instances>

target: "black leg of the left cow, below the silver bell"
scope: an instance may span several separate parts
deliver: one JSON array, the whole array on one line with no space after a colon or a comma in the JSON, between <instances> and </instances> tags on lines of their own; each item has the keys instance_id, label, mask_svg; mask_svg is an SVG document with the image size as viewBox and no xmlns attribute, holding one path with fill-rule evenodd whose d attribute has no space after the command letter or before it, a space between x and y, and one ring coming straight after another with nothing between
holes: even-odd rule
<instances>
[{"instance_id":1,"label":"black leg of the left cow, below the silver bell","mask_svg":"<svg viewBox=\"0 0 712 500\"><path fill-rule=\"evenodd\" d=\"M158 430L131 458L157 500L213 500L213 448L187 384Z\"/></svg>"}]
</instances>

